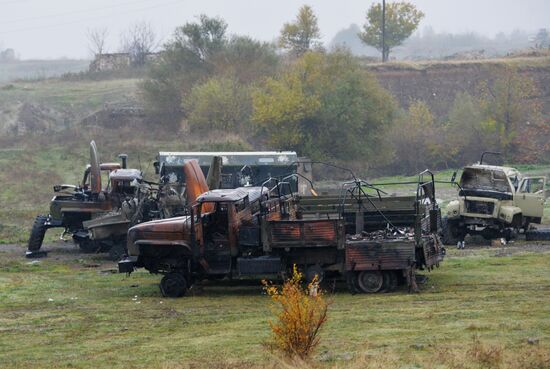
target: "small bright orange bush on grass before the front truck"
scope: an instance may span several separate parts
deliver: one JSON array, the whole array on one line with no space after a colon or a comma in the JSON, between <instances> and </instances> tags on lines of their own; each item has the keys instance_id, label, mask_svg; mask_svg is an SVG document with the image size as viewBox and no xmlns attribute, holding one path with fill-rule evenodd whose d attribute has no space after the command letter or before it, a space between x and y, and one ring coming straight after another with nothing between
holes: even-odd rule
<instances>
[{"instance_id":1,"label":"small bright orange bush on grass before the front truck","mask_svg":"<svg viewBox=\"0 0 550 369\"><path fill-rule=\"evenodd\" d=\"M319 331L327 320L328 302L317 278L303 286L303 275L296 266L281 287L263 281L273 302L275 319L270 346L289 357L307 359L319 344Z\"/></svg>"}]
</instances>

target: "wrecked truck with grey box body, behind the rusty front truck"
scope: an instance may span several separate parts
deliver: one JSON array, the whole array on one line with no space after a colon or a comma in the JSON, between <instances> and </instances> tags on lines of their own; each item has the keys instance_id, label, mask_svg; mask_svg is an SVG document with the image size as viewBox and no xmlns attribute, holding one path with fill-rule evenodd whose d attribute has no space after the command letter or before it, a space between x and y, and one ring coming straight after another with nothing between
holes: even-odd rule
<instances>
[{"instance_id":1,"label":"wrecked truck with grey box body, behind the rusty front truck","mask_svg":"<svg viewBox=\"0 0 550 369\"><path fill-rule=\"evenodd\" d=\"M113 260L118 261L126 252L126 233L131 226L186 214L187 183L183 165L179 163L196 158L202 173L207 175L210 189L228 189L239 187L242 183L249 184L260 175L286 172L292 168L291 160L295 160L296 155L293 152L161 152L158 158L159 161L154 163L158 168L158 183L140 178L136 183L131 183L135 194L126 196L120 207L83 222L82 233L98 250L107 249ZM295 188L296 181L293 185Z\"/></svg>"}]
</instances>

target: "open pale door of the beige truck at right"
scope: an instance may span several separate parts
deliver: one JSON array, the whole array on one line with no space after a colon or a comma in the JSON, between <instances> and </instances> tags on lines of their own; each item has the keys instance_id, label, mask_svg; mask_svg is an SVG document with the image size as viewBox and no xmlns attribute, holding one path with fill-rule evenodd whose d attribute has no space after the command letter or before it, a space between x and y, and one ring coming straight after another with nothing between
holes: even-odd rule
<instances>
[{"instance_id":1,"label":"open pale door of the beige truck at right","mask_svg":"<svg viewBox=\"0 0 550 369\"><path fill-rule=\"evenodd\" d=\"M542 218L546 189L546 177L526 177L521 180L514 202L524 217Z\"/></svg>"}]
</instances>

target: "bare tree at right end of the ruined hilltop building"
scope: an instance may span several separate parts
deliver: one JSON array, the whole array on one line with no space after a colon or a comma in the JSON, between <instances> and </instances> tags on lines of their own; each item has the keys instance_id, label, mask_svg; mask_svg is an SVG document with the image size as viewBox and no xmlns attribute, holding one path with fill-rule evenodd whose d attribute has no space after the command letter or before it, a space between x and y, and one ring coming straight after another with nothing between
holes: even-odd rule
<instances>
[{"instance_id":1,"label":"bare tree at right end of the ruined hilltop building","mask_svg":"<svg viewBox=\"0 0 550 369\"><path fill-rule=\"evenodd\" d=\"M151 25L145 21L134 23L120 36L123 52L130 54L132 64L145 64L147 54L158 46L157 35Z\"/></svg>"}]
</instances>

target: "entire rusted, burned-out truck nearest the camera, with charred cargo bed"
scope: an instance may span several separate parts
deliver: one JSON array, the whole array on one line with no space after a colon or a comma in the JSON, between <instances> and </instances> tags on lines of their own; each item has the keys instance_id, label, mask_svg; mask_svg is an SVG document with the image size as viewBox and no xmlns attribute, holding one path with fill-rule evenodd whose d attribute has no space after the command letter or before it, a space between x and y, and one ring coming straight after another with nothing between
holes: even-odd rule
<instances>
[{"instance_id":1,"label":"entire rusted, burned-out truck nearest the camera, with charred cargo bed","mask_svg":"<svg viewBox=\"0 0 550 369\"><path fill-rule=\"evenodd\" d=\"M273 278L293 265L308 278L345 279L354 293L415 289L415 271L444 255L433 178L421 176L413 196L368 194L355 180L339 197L315 198L297 196L287 180L208 191L196 161L184 173L196 199L190 214L132 227L119 262L123 273L164 274L165 296L183 296L204 279Z\"/></svg>"}]
</instances>

